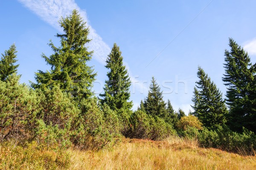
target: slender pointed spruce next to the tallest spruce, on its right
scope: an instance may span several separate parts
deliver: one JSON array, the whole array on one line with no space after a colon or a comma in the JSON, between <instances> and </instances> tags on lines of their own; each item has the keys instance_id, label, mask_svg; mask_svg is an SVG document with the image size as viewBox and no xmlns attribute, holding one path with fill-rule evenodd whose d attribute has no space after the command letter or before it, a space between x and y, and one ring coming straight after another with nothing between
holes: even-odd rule
<instances>
[{"instance_id":1,"label":"slender pointed spruce next to the tallest spruce, on its right","mask_svg":"<svg viewBox=\"0 0 256 170\"><path fill-rule=\"evenodd\" d=\"M107 73L108 80L105 81L104 94L100 94L103 99L102 104L107 104L112 110L125 109L130 110L132 101L130 99L129 88L131 81L128 71L123 65L122 52L119 46L114 43L113 48L108 55L106 68L110 69Z\"/></svg>"}]
</instances>

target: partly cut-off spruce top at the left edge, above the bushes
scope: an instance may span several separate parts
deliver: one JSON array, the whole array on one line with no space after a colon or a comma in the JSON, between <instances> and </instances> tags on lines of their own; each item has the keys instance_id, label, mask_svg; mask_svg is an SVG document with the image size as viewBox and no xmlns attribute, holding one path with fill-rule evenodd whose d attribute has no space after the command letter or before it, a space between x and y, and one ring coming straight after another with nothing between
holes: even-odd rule
<instances>
[{"instance_id":1,"label":"partly cut-off spruce top at the left edge, above the bushes","mask_svg":"<svg viewBox=\"0 0 256 170\"><path fill-rule=\"evenodd\" d=\"M16 46L12 44L9 50L6 50L4 54L2 54L0 61L0 80L6 81L7 76L12 75L13 73L17 73L17 67L19 64L14 65L17 61L15 58L16 55Z\"/></svg>"}]
</instances>

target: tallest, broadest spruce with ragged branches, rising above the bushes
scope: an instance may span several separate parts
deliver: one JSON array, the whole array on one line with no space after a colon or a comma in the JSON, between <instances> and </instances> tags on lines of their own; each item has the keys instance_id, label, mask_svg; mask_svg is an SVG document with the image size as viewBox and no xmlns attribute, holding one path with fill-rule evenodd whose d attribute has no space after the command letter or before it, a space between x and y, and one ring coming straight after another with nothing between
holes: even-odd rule
<instances>
[{"instance_id":1,"label":"tallest, broadest spruce with ragged branches, rising above the bushes","mask_svg":"<svg viewBox=\"0 0 256 170\"><path fill-rule=\"evenodd\" d=\"M61 46L57 48L50 41L49 46L54 54L49 58L44 54L42 57L51 69L47 72L39 70L35 75L38 84L32 83L32 86L52 88L58 84L63 91L72 94L76 99L89 98L96 76L94 69L87 66L87 61L91 60L93 54L85 47L90 42L87 38L89 28L76 10L70 16L62 17L59 23L64 30L63 35L56 35L61 39Z\"/></svg>"}]
</instances>

